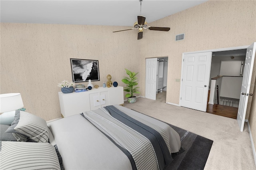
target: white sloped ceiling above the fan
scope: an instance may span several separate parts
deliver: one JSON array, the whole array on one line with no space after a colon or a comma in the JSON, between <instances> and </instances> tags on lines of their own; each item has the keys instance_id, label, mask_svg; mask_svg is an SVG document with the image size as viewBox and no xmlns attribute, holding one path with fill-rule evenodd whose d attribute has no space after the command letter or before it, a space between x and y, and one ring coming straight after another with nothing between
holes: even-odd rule
<instances>
[{"instance_id":1,"label":"white sloped ceiling above the fan","mask_svg":"<svg viewBox=\"0 0 256 170\"><path fill-rule=\"evenodd\" d=\"M207 0L143 0L148 23ZM133 26L139 0L1 0L0 21L11 23Z\"/></svg>"}]
</instances>

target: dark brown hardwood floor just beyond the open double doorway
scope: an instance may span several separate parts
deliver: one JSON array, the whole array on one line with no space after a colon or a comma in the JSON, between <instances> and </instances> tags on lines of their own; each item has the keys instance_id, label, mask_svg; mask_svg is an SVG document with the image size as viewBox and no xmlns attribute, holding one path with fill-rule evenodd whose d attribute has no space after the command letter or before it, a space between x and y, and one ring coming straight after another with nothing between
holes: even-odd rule
<instances>
[{"instance_id":1,"label":"dark brown hardwood floor just beyond the open double doorway","mask_svg":"<svg viewBox=\"0 0 256 170\"><path fill-rule=\"evenodd\" d=\"M220 115L220 116L236 119L238 108L237 107L224 106L224 105L207 104L206 112L207 113L212 113L214 115Z\"/></svg>"}]
</instances>

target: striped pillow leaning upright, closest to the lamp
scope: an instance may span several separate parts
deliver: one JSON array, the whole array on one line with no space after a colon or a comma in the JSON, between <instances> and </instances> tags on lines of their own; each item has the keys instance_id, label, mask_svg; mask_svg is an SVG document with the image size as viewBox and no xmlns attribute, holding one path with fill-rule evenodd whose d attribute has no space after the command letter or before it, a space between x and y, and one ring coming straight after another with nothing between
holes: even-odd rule
<instances>
[{"instance_id":1,"label":"striped pillow leaning upright, closest to the lamp","mask_svg":"<svg viewBox=\"0 0 256 170\"><path fill-rule=\"evenodd\" d=\"M6 130L20 142L48 142L49 132L46 121L24 111L16 111L12 125Z\"/></svg>"}]
</instances>

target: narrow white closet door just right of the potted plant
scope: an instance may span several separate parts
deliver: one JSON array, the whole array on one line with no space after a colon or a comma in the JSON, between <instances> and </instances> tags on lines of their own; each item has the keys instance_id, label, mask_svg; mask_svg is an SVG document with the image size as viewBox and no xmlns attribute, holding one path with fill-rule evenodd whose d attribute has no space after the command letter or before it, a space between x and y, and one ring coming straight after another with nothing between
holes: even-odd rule
<instances>
[{"instance_id":1,"label":"narrow white closet door just right of the potted plant","mask_svg":"<svg viewBox=\"0 0 256 170\"><path fill-rule=\"evenodd\" d=\"M156 100L157 58L146 59L145 98Z\"/></svg>"}]
</instances>

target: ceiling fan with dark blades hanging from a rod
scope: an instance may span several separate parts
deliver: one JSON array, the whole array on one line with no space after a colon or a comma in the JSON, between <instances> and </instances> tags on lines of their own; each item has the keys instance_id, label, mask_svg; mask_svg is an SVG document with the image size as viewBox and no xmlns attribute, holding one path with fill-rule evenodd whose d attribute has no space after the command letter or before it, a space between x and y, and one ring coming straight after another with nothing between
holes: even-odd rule
<instances>
[{"instance_id":1,"label":"ceiling fan with dark blades hanging from a rod","mask_svg":"<svg viewBox=\"0 0 256 170\"><path fill-rule=\"evenodd\" d=\"M146 17L141 15L141 2L140 1L140 15L138 15L138 20L134 22L134 28L126 29L126 30L119 30L119 31L113 31L113 32L120 32L120 31L127 31L127 30L136 30L138 29L138 40L142 39L143 29L147 30L155 30L155 31L169 31L170 28L168 27L151 27L148 26L148 22L146 22Z\"/></svg>"}]
</instances>

